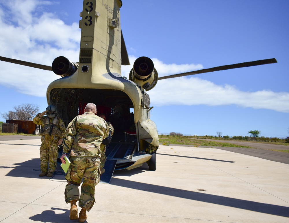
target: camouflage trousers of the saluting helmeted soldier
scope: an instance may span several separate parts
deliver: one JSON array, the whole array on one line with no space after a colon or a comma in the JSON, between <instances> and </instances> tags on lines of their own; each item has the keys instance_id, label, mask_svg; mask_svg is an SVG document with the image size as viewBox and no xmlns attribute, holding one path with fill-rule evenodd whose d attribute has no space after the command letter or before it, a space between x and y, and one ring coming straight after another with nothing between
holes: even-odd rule
<instances>
[{"instance_id":1,"label":"camouflage trousers of the saluting helmeted soldier","mask_svg":"<svg viewBox=\"0 0 289 223\"><path fill-rule=\"evenodd\" d=\"M40 169L41 172L44 173L47 171L53 173L57 165L57 157L58 157L57 141L53 142L52 145L51 142L47 142L47 146L45 144L46 142L45 140L43 140L40 146Z\"/></svg>"}]
</instances>

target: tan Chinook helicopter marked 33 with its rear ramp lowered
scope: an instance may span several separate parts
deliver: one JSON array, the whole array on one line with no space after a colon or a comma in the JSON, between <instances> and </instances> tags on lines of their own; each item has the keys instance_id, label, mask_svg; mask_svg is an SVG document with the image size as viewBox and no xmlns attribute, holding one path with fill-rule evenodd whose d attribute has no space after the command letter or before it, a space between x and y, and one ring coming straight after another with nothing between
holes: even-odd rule
<instances>
[{"instance_id":1,"label":"tan Chinook helicopter marked 33 with its rear ramp lowered","mask_svg":"<svg viewBox=\"0 0 289 223\"><path fill-rule=\"evenodd\" d=\"M121 75L121 65L129 65L121 32L122 4L121 0L84 0L77 63L62 56L52 66L0 57L2 61L52 70L61 77L48 86L47 102L57 107L66 126L75 116L83 114L88 102L97 105L98 114L105 114L115 129L113 142L106 150L106 171L101 176L106 183L114 170L133 169L145 162L149 170L156 170L159 139L157 127L150 119L152 107L147 92L158 80L277 62L275 58L257 60L158 77L152 60L139 57L126 79Z\"/></svg>"}]
</instances>

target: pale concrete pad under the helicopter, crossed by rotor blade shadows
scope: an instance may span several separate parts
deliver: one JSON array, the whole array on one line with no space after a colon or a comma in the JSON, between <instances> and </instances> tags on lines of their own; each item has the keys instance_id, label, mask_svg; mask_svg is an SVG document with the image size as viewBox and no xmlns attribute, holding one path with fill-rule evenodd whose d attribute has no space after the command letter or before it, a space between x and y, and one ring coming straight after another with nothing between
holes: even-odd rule
<instances>
[{"instance_id":1,"label":"pale concrete pad under the helicopter, crossed by rotor blade shadows","mask_svg":"<svg viewBox=\"0 0 289 223\"><path fill-rule=\"evenodd\" d=\"M1 141L0 222L69 220L60 172L39 177L40 139ZM217 148L160 146L157 170L115 171L86 222L289 222L289 165Z\"/></svg>"}]
</instances>

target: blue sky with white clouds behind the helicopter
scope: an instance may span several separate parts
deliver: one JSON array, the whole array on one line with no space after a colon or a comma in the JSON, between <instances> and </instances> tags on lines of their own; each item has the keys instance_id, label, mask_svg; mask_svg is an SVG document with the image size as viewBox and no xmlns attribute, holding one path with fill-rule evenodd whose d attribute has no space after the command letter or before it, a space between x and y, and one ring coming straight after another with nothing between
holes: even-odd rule
<instances>
[{"instance_id":1,"label":"blue sky with white clouds behind the helicopter","mask_svg":"<svg viewBox=\"0 0 289 223\"><path fill-rule=\"evenodd\" d=\"M82 1L0 0L0 55L51 65L78 61ZM287 137L289 1L123 0L130 63L150 57L159 76L275 57L277 64L158 81L150 95L159 133ZM0 62L0 113L47 106L49 71ZM122 67L128 77L131 66ZM3 118L0 116L1 121Z\"/></svg>"}]
</instances>

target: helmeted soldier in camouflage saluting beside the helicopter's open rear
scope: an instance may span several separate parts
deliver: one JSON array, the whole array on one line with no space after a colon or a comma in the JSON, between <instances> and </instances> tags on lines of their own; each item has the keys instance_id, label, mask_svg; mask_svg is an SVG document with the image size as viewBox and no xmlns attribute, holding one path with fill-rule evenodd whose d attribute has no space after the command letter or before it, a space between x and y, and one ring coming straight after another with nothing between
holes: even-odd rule
<instances>
[{"instance_id":1,"label":"helmeted soldier in camouflage saluting beside the helicopter's open rear","mask_svg":"<svg viewBox=\"0 0 289 223\"><path fill-rule=\"evenodd\" d=\"M46 115L47 116L44 116ZM39 176L52 177L56 168L58 158L58 146L62 144L65 137L64 122L56 115L54 105L49 105L46 111L38 113L33 118L34 124L41 125L39 135L41 136L40 146L40 169ZM49 163L49 167L48 167Z\"/></svg>"}]
</instances>

